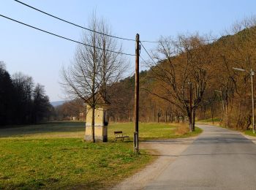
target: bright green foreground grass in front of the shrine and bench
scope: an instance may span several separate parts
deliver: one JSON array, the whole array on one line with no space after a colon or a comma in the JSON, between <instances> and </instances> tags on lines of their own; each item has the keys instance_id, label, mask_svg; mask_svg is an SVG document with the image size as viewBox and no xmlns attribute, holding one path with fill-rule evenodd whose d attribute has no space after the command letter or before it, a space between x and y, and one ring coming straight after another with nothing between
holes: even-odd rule
<instances>
[{"instance_id":1,"label":"bright green foreground grass in front of the shrine and bench","mask_svg":"<svg viewBox=\"0 0 256 190\"><path fill-rule=\"evenodd\" d=\"M103 189L153 159L131 148L76 138L0 140L0 189Z\"/></svg>"}]
</instances>

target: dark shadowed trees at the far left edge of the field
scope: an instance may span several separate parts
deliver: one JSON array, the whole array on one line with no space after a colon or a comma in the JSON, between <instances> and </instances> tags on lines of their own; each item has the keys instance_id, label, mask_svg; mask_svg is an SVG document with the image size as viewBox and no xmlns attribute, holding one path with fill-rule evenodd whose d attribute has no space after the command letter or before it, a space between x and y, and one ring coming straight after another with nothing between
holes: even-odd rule
<instances>
[{"instance_id":1,"label":"dark shadowed trees at the far left edge of the field","mask_svg":"<svg viewBox=\"0 0 256 190\"><path fill-rule=\"evenodd\" d=\"M0 62L0 126L49 120L52 110L44 86L21 72L10 76Z\"/></svg>"}]
</instances>

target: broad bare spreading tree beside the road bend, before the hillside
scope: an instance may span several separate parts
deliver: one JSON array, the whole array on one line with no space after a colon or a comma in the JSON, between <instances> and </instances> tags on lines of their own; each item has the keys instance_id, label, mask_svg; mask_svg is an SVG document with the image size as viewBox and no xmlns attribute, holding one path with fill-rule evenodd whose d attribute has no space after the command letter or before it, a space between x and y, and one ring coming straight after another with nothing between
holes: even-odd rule
<instances>
[{"instance_id":1,"label":"broad bare spreading tree beside the road bend, before the hillside","mask_svg":"<svg viewBox=\"0 0 256 190\"><path fill-rule=\"evenodd\" d=\"M187 112L190 131L195 130L195 111L210 79L211 46L197 35L162 38L154 58L152 76L159 90L150 92Z\"/></svg>"}]
</instances>

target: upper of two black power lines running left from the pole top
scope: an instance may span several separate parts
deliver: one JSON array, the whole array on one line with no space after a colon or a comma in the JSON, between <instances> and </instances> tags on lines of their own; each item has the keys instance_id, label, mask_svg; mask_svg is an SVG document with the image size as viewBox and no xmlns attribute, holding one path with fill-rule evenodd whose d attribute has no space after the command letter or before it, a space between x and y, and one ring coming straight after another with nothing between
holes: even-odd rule
<instances>
[{"instance_id":1,"label":"upper of two black power lines running left from the pole top","mask_svg":"<svg viewBox=\"0 0 256 190\"><path fill-rule=\"evenodd\" d=\"M76 23L72 23L72 22L69 22L69 21L64 20L64 19L62 19L62 18L56 17L56 16L54 16L54 15L51 15L51 14L48 13L48 12L42 11L42 10L40 10L40 9L37 9L36 7L32 7L31 5L25 4L25 3L21 2L21 1L18 1L18 0L14 0L14 1L16 1L16 2L18 2L18 3L20 3L20 4L23 4L23 5L25 5L26 7L29 7L29 8L31 8L31 9L37 10L37 11L39 11L39 12L42 12L43 14L48 15L48 16L50 16L50 17L52 17L52 18L56 18L56 19L61 20L61 21L65 22L65 23L69 23L69 24L71 24L71 25L73 25L73 26L77 26L77 27L79 27L79 28L83 28L83 29L86 29L86 30L88 30L88 31L92 31L92 32L95 32L95 33L97 33L97 34L102 34L102 35L105 35L105 36L107 36L107 37L113 37L113 38L116 38L116 39L124 39L124 40L128 40L128 41L135 41L135 39L128 39L128 38L124 38L124 37L116 37L116 36L113 36L113 35L110 35L110 34L102 33L102 32L100 32L100 31L94 31L94 30L92 30L92 29L90 29L90 28L86 28L86 27L80 26L80 25L78 25L78 24L76 24Z\"/></svg>"}]
</instances>

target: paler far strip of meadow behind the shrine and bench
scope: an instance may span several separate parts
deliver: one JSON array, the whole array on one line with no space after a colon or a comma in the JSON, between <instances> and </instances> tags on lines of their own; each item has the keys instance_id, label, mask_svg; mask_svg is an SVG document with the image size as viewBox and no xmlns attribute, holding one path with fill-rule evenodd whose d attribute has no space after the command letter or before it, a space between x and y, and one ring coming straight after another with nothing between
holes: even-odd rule
<instances>
[{"instance_id":1,"label":"paler far strip of meadow behind the shrine and bench","mask_svg":"<svg viewBox=\"0 0 256 190\"><path fill-rule=\"evenodd\" d=\"M175 124L170 123L139 123L140 140L192 137L200 133L200 129L196 129L192 133L176 134L176 128ZM114 140L114 131L122 131L132 138L134 132L133 123L111 123L108 126L109 140ZM72 121L0 129L0 137L7 138L83 138L84 133L85 123Z\"/></svg>"}]
</instances>

